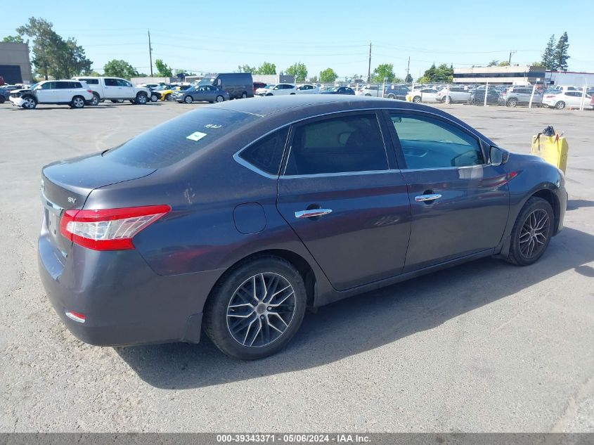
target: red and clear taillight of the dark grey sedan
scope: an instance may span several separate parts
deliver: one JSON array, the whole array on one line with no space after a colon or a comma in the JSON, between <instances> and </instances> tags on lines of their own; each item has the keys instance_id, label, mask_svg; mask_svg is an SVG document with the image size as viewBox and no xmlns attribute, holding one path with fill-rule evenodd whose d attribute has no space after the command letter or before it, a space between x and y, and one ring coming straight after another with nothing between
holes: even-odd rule
<instances>
[{"instance_id":1,"label":"red and clear taillight of the dark grey sedan","mask_svg":"<svg viewBox=\"0 0 594 445\"><path fill-rule=\"evenodd\" d=\"M60 219L60 233L93 250L129 250L134 249L132 238L138 232L170 211L169 205L66 210Z\"/></svg>"}]
</instances>

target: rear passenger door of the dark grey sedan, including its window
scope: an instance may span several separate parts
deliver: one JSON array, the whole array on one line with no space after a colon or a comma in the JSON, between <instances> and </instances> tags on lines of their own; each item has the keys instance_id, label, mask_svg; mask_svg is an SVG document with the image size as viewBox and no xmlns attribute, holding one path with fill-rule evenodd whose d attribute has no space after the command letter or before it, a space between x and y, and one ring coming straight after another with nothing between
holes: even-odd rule
<instances>
[{"instance_id":1,"label":"rear passenger door of the dark grey sedan, including its window","mask_svg":"<svg viewBox=\"0 0 594 445\"><path fill-rule=\"evenodd\" d=\"M378 117L358 111L295 124L278 181L280 214L338 290L404 266L411 209Z\"/></svg>"}]
</instances>

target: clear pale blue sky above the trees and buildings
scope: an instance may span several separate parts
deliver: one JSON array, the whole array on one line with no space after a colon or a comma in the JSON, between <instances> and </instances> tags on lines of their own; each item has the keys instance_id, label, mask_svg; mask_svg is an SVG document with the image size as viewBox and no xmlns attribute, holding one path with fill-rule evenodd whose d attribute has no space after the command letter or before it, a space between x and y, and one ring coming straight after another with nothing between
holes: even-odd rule
<instances>
[{"instance_id":1,"label":"clear pale blue sky above the trees and buildings","mask_svg":"<svg viewBox=\"0 0 594 445\"><path fill-rule=\"evenodd\" d=\"M594 72L594 0L559 1L27 1L10 8L0 37L34 15L53 22L63 37L75 37L93 69L113 58L150 72L147 30L156 58L196 72L226 72L238 65L275 63L277 72L295 62L309 75L331 67L341 77L367 75L394 64L399 77L417 78L431 63L454 67L490 60L528 64L541 59L551 34L569 35L569 70ZM290 6L290 5L294 6ZM422 6L420 6L422 4ZM217 6L221 5L221 6ZM550 11L564 11L551 15ZM26 11L26 12L25 12ZM139 18L141 16L142 18Z\"/></svg>"}]
</instances>

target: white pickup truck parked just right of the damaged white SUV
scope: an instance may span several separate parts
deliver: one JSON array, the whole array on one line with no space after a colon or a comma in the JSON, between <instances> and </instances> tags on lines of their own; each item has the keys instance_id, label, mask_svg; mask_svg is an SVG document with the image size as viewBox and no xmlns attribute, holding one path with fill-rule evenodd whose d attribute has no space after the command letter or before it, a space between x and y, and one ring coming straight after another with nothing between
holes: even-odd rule
<instances>
[{"instance_id":1,"label":"white pickup truck parked just right of the damaged white SUV","mask_svg":"<svg viewBox=\"0 0 594 445\"><path fill-rule=\"evenodd\" d=\"M126 79L120 77L72 77L75 80L86 82L93 91L93 99L89 105L97 105L105 100L112 102L130 101L144 105L150 98L150 89L144 86L134 86Z\"/></svg>"}]
</instances>

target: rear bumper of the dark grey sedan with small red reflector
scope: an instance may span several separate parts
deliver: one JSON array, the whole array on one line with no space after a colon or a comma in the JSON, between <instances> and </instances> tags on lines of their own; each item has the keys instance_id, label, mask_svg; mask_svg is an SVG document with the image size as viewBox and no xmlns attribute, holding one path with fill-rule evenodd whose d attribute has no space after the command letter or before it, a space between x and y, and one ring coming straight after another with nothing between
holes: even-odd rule
<instances>
[{"instance_id":1,"label":"rear bumper of the dark grey sedan with small red reflector","mask_svg":"<svg viewBox=\"0 0 594 445\"><path fill-rule=\"evenodd\" d=\"M42 231L41 282L53 308L79 340L126 346L200 340L202 308L221 271L161 276L137 250L72 246L67 258ZM84 323L67 312L84 315Z\"/></svg>"}]
</instances>

